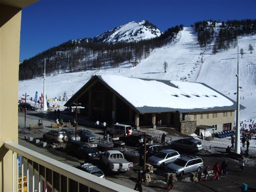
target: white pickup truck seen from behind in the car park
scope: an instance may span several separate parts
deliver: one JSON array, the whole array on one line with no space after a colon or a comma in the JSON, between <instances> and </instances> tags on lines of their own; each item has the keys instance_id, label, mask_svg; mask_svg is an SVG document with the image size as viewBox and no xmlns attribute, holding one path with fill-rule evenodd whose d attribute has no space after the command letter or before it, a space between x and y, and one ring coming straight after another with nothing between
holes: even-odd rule
<instances>
[{"instance_id":1,"label":"white pickup truck seen from behind in the car park","mask_svg":"<svg viewBox=\"0 0 256 192\"><path fill-rule=\"evenodd\" d=\"M130 169L130 164L120 151L108 150L102 154L100 161L107 166L108 172L126 172Z\"/></svg>"}]
</instances>

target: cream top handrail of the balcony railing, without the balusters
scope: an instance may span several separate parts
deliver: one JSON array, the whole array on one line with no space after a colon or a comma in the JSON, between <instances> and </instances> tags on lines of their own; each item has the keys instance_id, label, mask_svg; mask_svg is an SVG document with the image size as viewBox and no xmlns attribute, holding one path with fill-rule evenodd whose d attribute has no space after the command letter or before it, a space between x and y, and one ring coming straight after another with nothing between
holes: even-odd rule
<instances>
[{"instance_id":1,"label":"cream top handrail of the balcony railing, without the balusters","mask_svg":"<svg viewBox=\"0 0 256 192\"><path fill-rule=\"evenodd\" d=\"M16 144L14 142L4 142L4 147L16 152L17 154L24 156L46 168L49 168L67 178L71 178L72 180L88 186L90 188L94 188L98 191L104 192L132 192L134 190L127 188L125 186L121 186L114 182L99 178L47 156L44 156L38 152L30 150L24 146Z\"/></svg>"}]
</instances>

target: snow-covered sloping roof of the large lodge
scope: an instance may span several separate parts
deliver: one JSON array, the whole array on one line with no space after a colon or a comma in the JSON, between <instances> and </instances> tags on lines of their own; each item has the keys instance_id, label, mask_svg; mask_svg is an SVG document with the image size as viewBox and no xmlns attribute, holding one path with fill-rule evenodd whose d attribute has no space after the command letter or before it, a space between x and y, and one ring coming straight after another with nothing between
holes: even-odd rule
<instances>
[{"instance_id":1,"label":"snow-covered sloping roof of the large lodge","mask_svg":"<svg viewBox=\"0 0 256 192\"><path fill-rule=\"evenodd\" d=\"M94 77L99 78L140 113L236 109L236 102L203 83L117 75L95 75L92 78ZM86 84L81 90L84 90ZM70 98L70 102L72 100ZM68 106L68 102L65 106Z\"/></svg>"}]
</instances>

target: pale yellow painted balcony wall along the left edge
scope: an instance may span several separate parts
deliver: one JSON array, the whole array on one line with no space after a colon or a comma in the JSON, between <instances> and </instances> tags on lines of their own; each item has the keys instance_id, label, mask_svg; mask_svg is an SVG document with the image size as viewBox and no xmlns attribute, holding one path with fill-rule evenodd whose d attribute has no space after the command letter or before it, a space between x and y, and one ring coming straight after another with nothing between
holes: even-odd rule
<instances>
[{"instance_id":1,"label":"pale yellow painted balcony wall along the left edge","mask_svg":"<svg viewBox=\"0 0 256 192\"><path fill-rule=\"evenodd\" d=\"M18 143L21 8L0 4L0 13L0 191L12 191L12 151L3 144Z\"/></svg>"}]
</instances>

